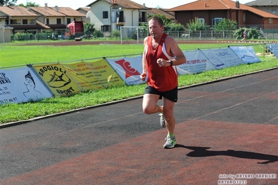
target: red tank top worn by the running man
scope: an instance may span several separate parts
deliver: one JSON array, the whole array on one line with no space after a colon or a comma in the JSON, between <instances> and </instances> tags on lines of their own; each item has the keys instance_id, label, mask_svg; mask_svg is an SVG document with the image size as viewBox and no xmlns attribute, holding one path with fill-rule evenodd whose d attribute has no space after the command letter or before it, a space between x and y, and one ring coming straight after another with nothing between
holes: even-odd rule
<instances>
[{"instance_id":1,"label":"red tank top worn by the running man","mask_svg":"<svg viewBox=\"0 0 278 185\"><path fill-rule=\"evenodd\" d=\"M172 90L178 86L178 74L176 66L160 67L157 64L158 58L171 60L173 56L169 56L165 47L165 38L167 34L163 33L159 45L153 48L152 37L148 37L148 45L146 48L146 67L148 70L148 86L156 88L160 92Z\"/></svg>"}]
</instances>

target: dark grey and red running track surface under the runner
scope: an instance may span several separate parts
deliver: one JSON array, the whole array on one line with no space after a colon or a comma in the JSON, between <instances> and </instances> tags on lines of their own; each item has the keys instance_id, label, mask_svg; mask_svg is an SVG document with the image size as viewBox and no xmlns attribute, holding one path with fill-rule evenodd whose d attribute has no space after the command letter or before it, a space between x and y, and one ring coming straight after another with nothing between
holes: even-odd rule
<instances>
[{"instance_id":1,"label":"dark grey and red running track surface under the runner","mask_svg":"<svg viewBox=\"0 0 278 185\"><path fill-rule=\"evenodd\" d=\"M278 184L278 69L178 97L170 150L141 97L1 128L0 184Z\"/></svg>"}]
</instances>

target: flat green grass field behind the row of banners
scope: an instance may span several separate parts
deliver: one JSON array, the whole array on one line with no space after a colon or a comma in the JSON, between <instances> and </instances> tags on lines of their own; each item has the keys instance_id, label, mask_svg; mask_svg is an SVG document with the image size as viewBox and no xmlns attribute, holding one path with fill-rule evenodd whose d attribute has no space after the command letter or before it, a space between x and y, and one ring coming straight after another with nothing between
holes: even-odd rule
<instances>
[{"instance_id":1,"label":"flat green grass field behind the row of banners","mask_svg":"<svg viewBox=\"0 0 278 185\"><path fill-rule=\"evenodd\" d=\"M256 53L263 53L265 45L249 43L224 42L212 44L180 44L180 49L190 51L196 49L225 48L229 45L252 45ZM56 63L75 61L87 58L100 58L109 56L125 56L142 54L144 45L78 45L78 46L52 46L52 45L22 45L22 42L0 45L0 68L35 63Z\"/></svg>"}]
</instances>

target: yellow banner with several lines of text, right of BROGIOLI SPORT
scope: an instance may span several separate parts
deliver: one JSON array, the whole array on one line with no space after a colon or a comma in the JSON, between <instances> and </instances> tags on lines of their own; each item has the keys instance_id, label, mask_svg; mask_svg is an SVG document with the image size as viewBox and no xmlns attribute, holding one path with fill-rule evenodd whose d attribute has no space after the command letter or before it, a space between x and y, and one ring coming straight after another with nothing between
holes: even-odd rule
<instances>
[{"instance_id":1,"label":"yellow banner with several lines of text, right of BROGIOLI SPORT","mask_svg":"<svg viewBox=\"0 0 278 185\"><path fill-rule=\"evenodd\" d=\"M82 61L79 63L63 64L63 67L68 72L70 79L75 81L81 90L105 88L123 82L105 59L92 63Z\"/></svg>"}]
</instances>

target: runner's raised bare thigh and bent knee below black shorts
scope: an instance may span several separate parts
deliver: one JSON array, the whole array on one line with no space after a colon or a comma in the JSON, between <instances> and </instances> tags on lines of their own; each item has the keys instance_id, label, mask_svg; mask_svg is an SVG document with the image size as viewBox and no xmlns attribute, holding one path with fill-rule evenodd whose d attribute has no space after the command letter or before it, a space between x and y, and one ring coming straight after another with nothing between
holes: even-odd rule
<instances>
[{"instance_id":1,"label":"runner's raised bare thigh and bent knee below black shorts","mask_svg":"<svg viewBox=\"0 0 278 185\"><path fill-rule=\"evenodd\" d=\"M152 114L162 112L162 106L157 105L158 99L160 99L160 95L145 94L142 102L142 108L144 113Z\"/></svg>"}]
</instances>

